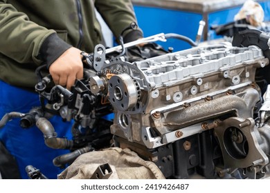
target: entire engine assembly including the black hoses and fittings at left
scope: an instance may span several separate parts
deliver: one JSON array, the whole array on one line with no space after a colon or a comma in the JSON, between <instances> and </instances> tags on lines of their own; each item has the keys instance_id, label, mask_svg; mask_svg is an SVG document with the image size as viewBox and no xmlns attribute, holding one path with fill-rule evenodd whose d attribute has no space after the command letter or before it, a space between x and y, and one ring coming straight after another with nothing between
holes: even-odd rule
<instances>
[{"instance_id":1,"label":"entire engine assembly including the black hoses and fittings at left","mask_svg":"<svg viewBox=\"0 0 270 193\"><path fill-rule=\"evenodd\" d=\"M24 128L35 123L44 132L49 147L69 148L57 167L114 145L154 162L167 179L264 179L270 87L262 92L255 79L269 65L264 51L221 43L131 62L97 45L82 53L84 79L71 91L43 77L41 107L8 114L1 125L19 116ZM46 119L53 114L74 121L72 141L55 136Z\"/></svg>"}]
</instances>

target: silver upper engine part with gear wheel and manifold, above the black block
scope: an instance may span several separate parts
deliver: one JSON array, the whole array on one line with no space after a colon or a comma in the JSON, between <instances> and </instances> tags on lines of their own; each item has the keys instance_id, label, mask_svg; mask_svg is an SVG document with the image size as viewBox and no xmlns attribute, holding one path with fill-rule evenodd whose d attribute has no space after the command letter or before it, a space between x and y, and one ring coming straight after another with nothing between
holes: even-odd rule
<instances>
[{"instance_id":1,"label":"silver upper engine part with gear wheel and manifold, above the black block","mask_svg":"<svg viewBox=\"0 0 270 193\"><path fill-rule=\"evenodd\" d=\"M179 133L179 129L213 116L236 111L237 116L251 117L260 100L259 93L253 91L255 68L266 64L257 48L224 45L193 48L134 64L111 64L110 70L124 72L112 76L108 83L109 101L116 109L111 132L156 148L195 131L182 130L181 137L171 132ZM243 91L249 92L250 101L237 96ZM161 138L153 139L147 132L150 128Z\"/></svg>"}]
</instances>

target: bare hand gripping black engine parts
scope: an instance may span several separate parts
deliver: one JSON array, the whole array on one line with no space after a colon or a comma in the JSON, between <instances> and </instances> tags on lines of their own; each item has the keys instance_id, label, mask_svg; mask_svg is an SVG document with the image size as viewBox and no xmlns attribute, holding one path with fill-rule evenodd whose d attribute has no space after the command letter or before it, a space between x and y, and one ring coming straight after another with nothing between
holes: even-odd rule
<instances>
[{"instance_id":1,"label":"bare hand gripping black engine parts","mask_svg":"<svg viewBox=\"0 0 270 193\"><path fill-rule=\"evenodd\" d=\"M69 48L49 67L49 72L55 84L66 86L68 90L75 83L75 79L82 79L82 51L77 48Z\"/></svg>"}]
</instances>

